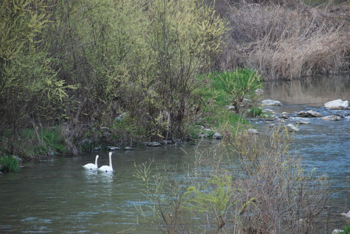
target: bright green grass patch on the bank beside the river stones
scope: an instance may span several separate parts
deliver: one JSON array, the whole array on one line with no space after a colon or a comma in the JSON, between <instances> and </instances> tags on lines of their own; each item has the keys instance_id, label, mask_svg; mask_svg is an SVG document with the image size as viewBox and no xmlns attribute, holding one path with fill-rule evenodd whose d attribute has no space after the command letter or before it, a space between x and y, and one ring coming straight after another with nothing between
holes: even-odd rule
<instances>
[{"instance_id":1,"label":"bright green grass patch on the bank beside the river stones","mask_svg":"<svg viewBox=\"0 0 350 234\"><path fill-rule=\"evenodd\" d=\"M203 118L195 122L189 130L192 138L205 135L211 138L216 132L235 132L237 126L249 125L240 111L229 110L225 105L232 105L240 98L255 98L255 90L259 89L262 81L258 73L252 69L238 68L235 71L213 72L197 77L201 82L196 94L202 97ZM245 107L247 110L248 107ZM254 115L262 114L260 107L252 107ZM198 126L203 126L201 129ZM210 131L208 130L210 129Z\"/></svg>"}]
</instances>

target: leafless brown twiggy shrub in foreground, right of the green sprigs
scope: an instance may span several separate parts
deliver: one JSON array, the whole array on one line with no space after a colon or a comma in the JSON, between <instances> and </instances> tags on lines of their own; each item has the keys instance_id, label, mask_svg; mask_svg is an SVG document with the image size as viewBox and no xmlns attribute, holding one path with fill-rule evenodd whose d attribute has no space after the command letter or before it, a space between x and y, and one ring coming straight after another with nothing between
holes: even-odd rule
<instances>
[{"instance_id":1,"label":"leafless brown twiggy shrub in foreground, right of the green sprigs","mask_svg":"<svg viewBox=\"0 0 350 234\"><path fill-rule=\"evenodd\" d=\"M278 129L263 138L241 132L231 143L234 150L220 145L196 160L197 168L205 169L207 176L232 174L232 188L238 190L231 194L236 203L225 213L226 229L235 233L320 233L319 227L325 226L320 212L328 200L327 177L304 170L301 158L290 149L291 136Z\"/></svg>"}]
</instances>

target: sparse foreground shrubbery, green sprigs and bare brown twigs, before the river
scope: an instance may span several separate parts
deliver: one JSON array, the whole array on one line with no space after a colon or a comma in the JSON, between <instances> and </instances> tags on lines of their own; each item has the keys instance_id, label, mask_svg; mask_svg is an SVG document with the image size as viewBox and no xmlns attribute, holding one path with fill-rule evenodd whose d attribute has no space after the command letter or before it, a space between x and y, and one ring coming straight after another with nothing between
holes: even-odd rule
<instances>
[{"instance_id":1,"label":"sparse foreground shrubbery, green sprigs and bare brown twigs, before the river","mask_svg":"<svg viewBox=\"0 0 350 234\"><path fill-rule=\"evenodd\" d=\"M231 146L198 151L183 174L140 165L135 176L147 200L136 206L140 222L164 233L319 233L329 185L303 169L290 143L279 130L266 138L237 131Z\"/></svg>"}]
</instances>

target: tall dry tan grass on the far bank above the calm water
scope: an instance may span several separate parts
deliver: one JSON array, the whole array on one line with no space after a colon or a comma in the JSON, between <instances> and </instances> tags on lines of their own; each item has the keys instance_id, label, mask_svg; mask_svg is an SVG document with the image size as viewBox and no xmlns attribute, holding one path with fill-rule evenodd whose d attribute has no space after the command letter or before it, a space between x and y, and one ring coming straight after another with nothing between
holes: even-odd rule
<instances>
[{"instance_id":1,"label":"tall dry tan grass on the far bank above the calm water","mask_svg":"<svg viewBox=\"0 0 350 234\"><path fill-rule=\"evenodd\" d=\"M252 67L264 80L350 70L350 23L337 15L349 12L346 5L341 11L280 5L231 5L224 14L231 31L218 59L221 70Z\"/></svg>"}]
</instances>

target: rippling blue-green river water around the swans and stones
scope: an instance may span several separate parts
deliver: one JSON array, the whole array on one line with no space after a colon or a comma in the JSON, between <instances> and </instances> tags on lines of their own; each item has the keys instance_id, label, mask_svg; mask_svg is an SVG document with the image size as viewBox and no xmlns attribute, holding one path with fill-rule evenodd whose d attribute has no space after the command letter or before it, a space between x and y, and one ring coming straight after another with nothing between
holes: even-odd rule
<instances>
[{"instance_id":1,"label":"rippling blue-green river water around the swans and stones","mask_svg":"<svg viewBox=\"0 0 350 234\"><path fill-rule=\"evenodd\" d=\"M349 111L330 111L324 103L350 100L350 77L319 76L302 80L265 83L264 97L279 100L283 106L264 107L276 113L288 112L287 123L300 120L295 112L314 110L324 115ZM294 134L294 149L307 169L328 174L332 184L331 225L341 228L340 213L350 210L350 120L322 121L308 118ZM258 121L262 131L271 122ZM210 147L201 144L200 149ZM134 204L145 200L142 187L132 174L135 166L154 158L154 166L176 166L190 162L193 145L138 146L137 151L116 151L113 173L84 170L98 154L99 166L109 165L108 152L92 152L75 157L52 157L25 163L18 173L0 176L0 233L155 233L153 229L132 230L136 220ZM181 173L181 170L179 171Z\"/></svg>"}]
</instances>

